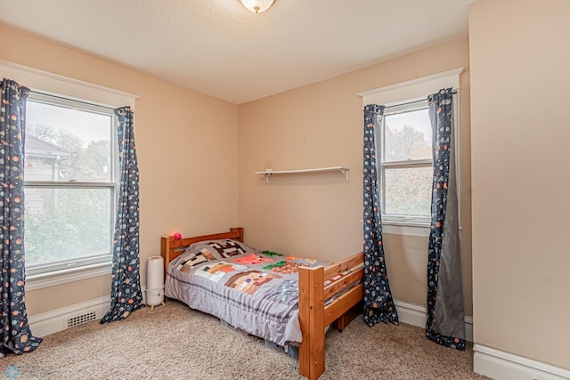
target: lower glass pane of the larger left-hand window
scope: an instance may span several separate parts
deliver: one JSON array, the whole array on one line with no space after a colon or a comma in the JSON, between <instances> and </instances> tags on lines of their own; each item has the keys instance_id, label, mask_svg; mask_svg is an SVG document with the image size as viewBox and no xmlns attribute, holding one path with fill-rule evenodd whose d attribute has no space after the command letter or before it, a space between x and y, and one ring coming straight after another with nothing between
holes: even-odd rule
<instances>
[{"instance_id":1,"label":"lower glass pane of the larger left-hand window","mask_svg":"<svg viewBox=\"0 0 570 380\"><path fill-rule=\"evenodd\" d=\"M26 266L110 254L111 190L25 189Z\"/></svg>"}]
</instances>

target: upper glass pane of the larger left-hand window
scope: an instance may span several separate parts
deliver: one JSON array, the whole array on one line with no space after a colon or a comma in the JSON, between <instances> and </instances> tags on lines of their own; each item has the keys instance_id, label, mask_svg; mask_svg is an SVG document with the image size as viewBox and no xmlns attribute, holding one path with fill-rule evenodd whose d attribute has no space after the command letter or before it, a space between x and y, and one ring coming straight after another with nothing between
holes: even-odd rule
<instances>
[{"instance_id":1,"label":"upper glass pane of the larger left-hand window","mask_svg":"<svg viewBox=\"0 0 570 380\"><path fill-rule=\"evenodd\" d=\"M112 116L28 101L26 181L111 182Z\"/></svg>"}]
</instances>

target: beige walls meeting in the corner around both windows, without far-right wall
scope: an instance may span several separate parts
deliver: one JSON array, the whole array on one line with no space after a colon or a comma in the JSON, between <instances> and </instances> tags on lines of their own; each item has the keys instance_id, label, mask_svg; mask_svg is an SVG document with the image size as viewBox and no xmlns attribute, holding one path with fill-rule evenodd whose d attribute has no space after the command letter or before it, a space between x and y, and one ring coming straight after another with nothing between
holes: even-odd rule
<instances>
[{"instance_id":1,"label":"beige walls meeting in the corner around both windows, without far-right wall","mask_svg":"<svg viewBox=\"0 0 570 380\"><path fill-rule=\"evenodd\" d=\"M0 59L141 96L135 132L142 283L146 259L159 254L159 236L175 230L196 235L239 222L254 247L324 261L361 251L362 99L357 93L465 68L460 77L461 249L471 314L468 39L238 108L12 29L0 28L0 33L7 41ZM349 180L330 173L273 176L265 183L253 173L322 166L349 167ZM428 239L386 234L385 245L395 298L424 305ZM105 296L109 288L109 278L102 277L28 292L28 314Z\"/></svg>"}]
</instances>

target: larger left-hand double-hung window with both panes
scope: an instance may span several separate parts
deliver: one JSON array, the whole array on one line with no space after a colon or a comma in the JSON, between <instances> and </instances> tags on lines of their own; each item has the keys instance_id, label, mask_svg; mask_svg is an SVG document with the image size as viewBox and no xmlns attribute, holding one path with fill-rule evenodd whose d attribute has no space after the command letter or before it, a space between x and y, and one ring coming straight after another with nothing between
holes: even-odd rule
<instances>
[{"instance_id":1,"label":"larger left-hand double-hung window with both panes","mask_svg":"<svg viewBox=\"0 0 570 380\"><path fill-rule=\"evenodd\" d=\"M118 191L113 110L32 92L26 113L27 274L109 267Z\"/></svg>"}]
</instances>

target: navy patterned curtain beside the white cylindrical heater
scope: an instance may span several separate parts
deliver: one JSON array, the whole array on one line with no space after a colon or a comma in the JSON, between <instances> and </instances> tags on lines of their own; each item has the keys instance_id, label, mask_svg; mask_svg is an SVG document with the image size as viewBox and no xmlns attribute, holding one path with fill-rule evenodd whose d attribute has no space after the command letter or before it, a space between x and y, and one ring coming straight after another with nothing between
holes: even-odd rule
<instances>
[{"instance_id":1,"label":"navy patterned curtain beside the white cylindrical heater","mask_svg":"<svg viewBox=\"0 0 570 380\"><path fill-rule=\"evenodd\" d=\"M134 115L128 107L115 109L115 114L118 117L120 189L113 239L110 311L101 323L126 319L144 306L139 271L139 167L134 147Z\"/></svg>"}]
</instances>

